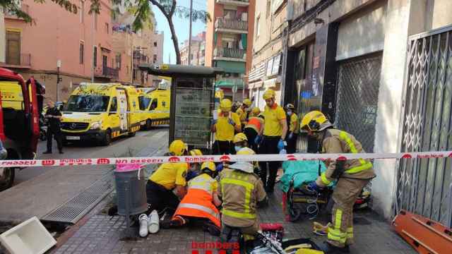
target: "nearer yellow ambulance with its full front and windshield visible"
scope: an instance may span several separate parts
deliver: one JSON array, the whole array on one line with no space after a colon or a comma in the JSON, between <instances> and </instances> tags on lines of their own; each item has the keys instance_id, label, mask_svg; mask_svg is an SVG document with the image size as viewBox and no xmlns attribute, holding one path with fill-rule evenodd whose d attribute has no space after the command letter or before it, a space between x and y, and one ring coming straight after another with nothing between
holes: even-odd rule
<instances>
[{"instance_id":1,"label":"nearer yellow ambulance with its full front and windshield visible","mask_svg":"<svg viewBox=\"0 0 452 254\"><path fill-rule=\"evenodd\" d=\"M64 143L94 140L109 145L112 138L140 129L138 92L119 83L81 83L68 99L61 120Z\"/></svg>"}]
</instances>

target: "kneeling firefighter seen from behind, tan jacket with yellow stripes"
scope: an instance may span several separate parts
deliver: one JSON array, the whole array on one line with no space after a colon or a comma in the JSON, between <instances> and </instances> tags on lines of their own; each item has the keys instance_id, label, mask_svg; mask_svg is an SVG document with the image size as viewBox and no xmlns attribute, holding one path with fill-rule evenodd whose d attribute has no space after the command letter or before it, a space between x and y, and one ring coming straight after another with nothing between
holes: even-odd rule
<instances>
[{"instance_id":1,"label":"kneeling firefighter seen from behind, tan jacket with yellow stripes","mask_svg":"<svg viewBox=\"0 0 452 254\"><path fill-rule=\"evenodd\" d=\"M251 149L244 147L237 155L253 155ZM250 162L236 162L220 172L218 196L222 199L223 243L238 243L239 235L244 240L254 240L259 230L256 206L268 204L266 191Z\"/></svg>"}]
</instances>

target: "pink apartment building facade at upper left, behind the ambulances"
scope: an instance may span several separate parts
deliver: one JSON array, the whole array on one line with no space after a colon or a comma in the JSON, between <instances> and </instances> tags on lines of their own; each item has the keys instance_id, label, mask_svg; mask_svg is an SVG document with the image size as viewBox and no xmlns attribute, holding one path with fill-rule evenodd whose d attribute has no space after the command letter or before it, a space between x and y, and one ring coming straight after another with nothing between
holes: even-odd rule
<instances>
[{"instance_id":1,"label":"pink apartment building facade at upper left, behind the ambulances","mask_svg":"<svg viewBox=\"0 0 452 254\"><path fill-rule=\"evenodd\" d=\"M92 76L100 82L118 80L113 68L111 5L107 0L100 4L100 14L89 15L88 1L73 0L71 10L53 1L20 1L20 8L35 24L5 13L5 62L1 66L24 78L34 76L54 100L66 99L74 87Z\"/></svg>"}]
</instances>

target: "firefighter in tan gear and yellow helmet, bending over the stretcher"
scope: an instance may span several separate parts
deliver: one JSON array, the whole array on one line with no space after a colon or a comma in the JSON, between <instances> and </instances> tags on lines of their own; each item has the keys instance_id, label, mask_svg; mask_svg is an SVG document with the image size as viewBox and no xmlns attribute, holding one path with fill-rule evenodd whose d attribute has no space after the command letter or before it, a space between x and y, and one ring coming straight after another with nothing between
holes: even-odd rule
<instances>
[{"instance_id":1,"label":"firefighter in tan gear and yellow helmet, bending over the stretcher","mask_svg":"<svg viewBox=\"0 0 452 254\"><path fill-rule=\"evenodd\" d=\"M308 135L321 141L323 153L364 153L361 143L350 133L333 128L321 111L306 114L301 128ZM375 177L368 159L329 161L327 169L309 188L319 191L335 179L338 180L334 193L332 224L328 228L328 241L321 247L324 253L349 253L353 243L353 205L362 188Z\"/></svg>"}]
</instances>

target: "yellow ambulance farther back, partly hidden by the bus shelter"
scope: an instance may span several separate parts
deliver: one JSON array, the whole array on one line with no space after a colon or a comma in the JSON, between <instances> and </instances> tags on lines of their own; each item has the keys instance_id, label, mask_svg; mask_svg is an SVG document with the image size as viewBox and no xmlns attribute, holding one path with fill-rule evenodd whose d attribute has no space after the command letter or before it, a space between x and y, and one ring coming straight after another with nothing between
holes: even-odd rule
<instances>
[{"instance_id":1,"label":"yellow ambulance farther back, partly hidden by the bus shelter","mask_svg":"<svg viewBox=\"0 0 452 254\"><path fill-rule=\"evenodd\" d=\"M143 129L149 130L153 126L169 124L170 90L152 90L141 92L139 96L141 122Z\"/></svg>"}]
</instances>

